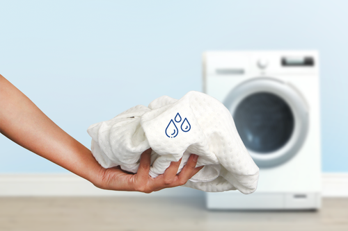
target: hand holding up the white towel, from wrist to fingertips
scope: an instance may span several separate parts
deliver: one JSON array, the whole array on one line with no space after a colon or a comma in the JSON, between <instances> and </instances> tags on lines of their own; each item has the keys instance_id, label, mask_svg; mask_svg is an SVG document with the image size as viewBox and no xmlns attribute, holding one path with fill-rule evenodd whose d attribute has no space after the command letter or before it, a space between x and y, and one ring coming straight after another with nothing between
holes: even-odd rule
<instances>
[{"instance_id":1,"label":"hand holding up the white towel, from wrist to fingertips","mask_svg":"<svg viewBox=\"0 0 348 231\"><path fill-rule=\"evenodd\" d=\"M141 154L137 173L126 173L120 169L120 166L104 169L104 171L100 172L99 180L93 184L102 189L141 191L150 194L152 191L184 185L189 178L198 173L200 169L203 169L203 166L195 168L198 155L191 154L180 174L176 173L181 159L178 162L171 162L164 174L157 176L157 178L152 178L149 176L150 155L151 148Z\"/></svg>"}]
</instances>

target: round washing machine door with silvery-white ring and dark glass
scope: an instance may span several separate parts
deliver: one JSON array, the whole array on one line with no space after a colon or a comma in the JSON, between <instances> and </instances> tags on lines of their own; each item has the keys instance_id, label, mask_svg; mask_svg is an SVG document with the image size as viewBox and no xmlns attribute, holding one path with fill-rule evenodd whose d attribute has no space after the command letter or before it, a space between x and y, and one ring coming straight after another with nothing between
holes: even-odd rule
<instances>
[{"instance_id":1,"label":"round washing machine door with silvery-white ring and dark glass","mask_svg":"<svg viewBox=\"0 0 348 231\"><path fill-rule=\"evenodd\" d=\"M306 139L307 104L294 87L276 78L248 80L232 89L223 104L260 168L289 161Z\"/></svg>"}]
</instances>

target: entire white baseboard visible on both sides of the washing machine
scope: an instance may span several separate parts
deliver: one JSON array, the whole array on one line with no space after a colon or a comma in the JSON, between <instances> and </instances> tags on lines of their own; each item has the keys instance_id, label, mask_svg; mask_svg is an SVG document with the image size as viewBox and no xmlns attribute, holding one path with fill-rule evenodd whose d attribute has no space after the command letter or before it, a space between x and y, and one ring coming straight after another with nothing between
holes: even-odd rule
<instances>
[{"instance_id":1,"label":"entire white baseboard visible on both sides of the washing machine","mask_svg":"<svg viewBox=\"0 0 348 231\"><path fill-rule=\"evenodd\" d=\"M109 191L72 173L0 174L0 196L202 196L187 187L164 189L152 194ZM322 196L348 197L348 173L323 173Z\"/></svg>"}]
</instances>

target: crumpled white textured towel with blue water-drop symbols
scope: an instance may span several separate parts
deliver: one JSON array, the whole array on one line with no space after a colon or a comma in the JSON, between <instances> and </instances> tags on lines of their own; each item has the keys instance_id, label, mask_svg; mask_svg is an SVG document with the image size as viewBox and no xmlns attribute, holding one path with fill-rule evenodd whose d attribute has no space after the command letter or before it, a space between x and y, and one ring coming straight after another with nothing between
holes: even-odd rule
<instances>
[{"instance_id":1,"label":"crumpled white textured towel with blue water-drop symbols","mask_svg":"<svg viewBox=\"0 0 348 231\"><path fill-rule=\"evenodd\" d=\"M182 99L161 96L148 107L137 105L88 128L92 153L104 168L120 166L136 173L141 153L152 148L150 176L164 173L182 157L199 155L203 166L186 187L203 191L255 191L259 169L240 139L228 109L200 92Z\"/></svg>"}]
</instances>

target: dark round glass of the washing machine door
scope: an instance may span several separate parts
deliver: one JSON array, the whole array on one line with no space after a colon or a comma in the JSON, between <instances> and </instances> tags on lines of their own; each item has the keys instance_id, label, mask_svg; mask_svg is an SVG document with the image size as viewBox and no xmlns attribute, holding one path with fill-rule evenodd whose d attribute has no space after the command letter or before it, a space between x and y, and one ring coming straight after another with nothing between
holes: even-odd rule
<instances>
[{"instance_id":1,"label":"dark round glass of the washing machine door","mask_svg":"<svg viewBox=\"0 0 348 231\"><path fill-rule=\"evenodd\" d=\"M284 146L294 130L294 116L287 103L275 94L251 94L237 106L233 116L246 148L271 153Z\"/></svg>"}]
</instances>

